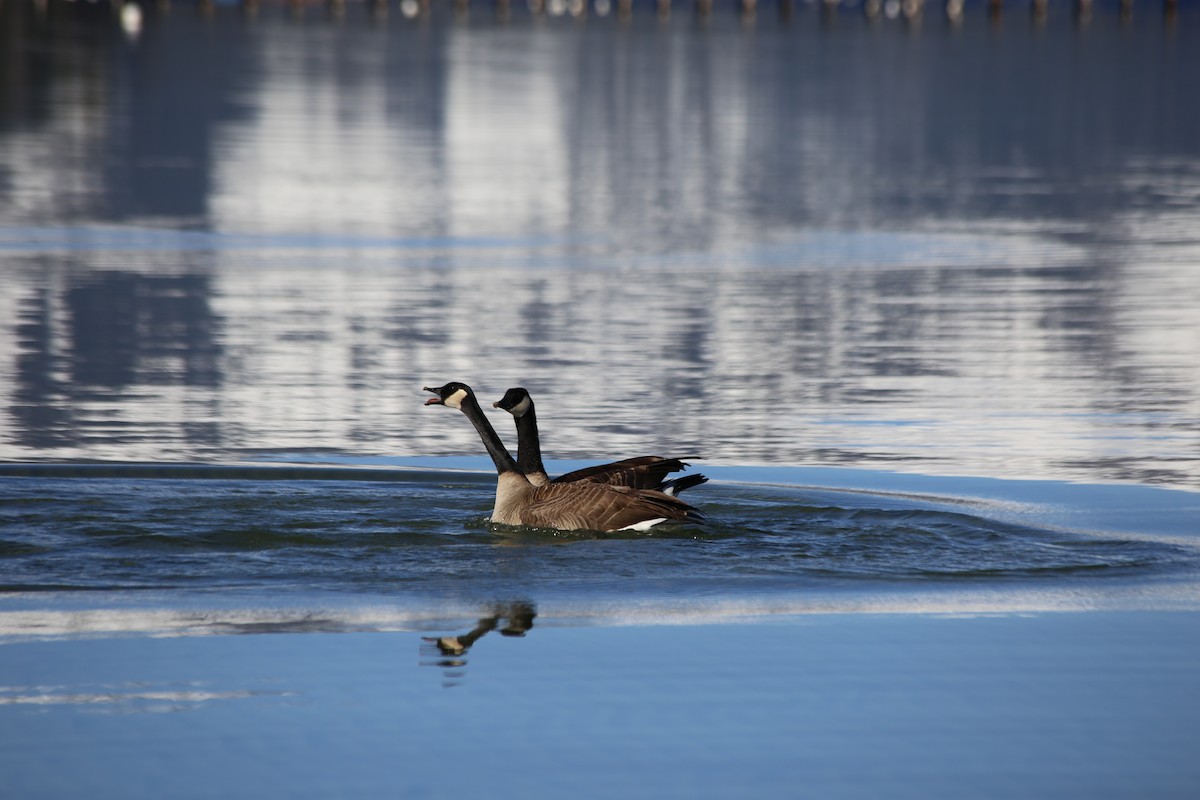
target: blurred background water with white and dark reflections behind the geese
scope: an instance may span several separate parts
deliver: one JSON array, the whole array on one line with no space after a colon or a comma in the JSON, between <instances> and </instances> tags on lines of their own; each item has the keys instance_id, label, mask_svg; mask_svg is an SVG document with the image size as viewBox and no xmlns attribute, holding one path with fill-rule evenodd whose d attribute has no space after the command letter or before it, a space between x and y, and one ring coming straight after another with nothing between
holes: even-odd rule
<instances>
[{"instance_id":1,"label":"blurred background water with white and dark reflections behind the geese","mask_svg":"<svg viewBox=\"0 0 1200 800\"><path fill-rule=\"evenodd\" d=\"M2 0L0 459L1200 487L1198 12Z\"/></svg>"}]
</instances>

